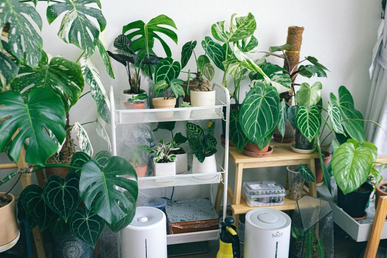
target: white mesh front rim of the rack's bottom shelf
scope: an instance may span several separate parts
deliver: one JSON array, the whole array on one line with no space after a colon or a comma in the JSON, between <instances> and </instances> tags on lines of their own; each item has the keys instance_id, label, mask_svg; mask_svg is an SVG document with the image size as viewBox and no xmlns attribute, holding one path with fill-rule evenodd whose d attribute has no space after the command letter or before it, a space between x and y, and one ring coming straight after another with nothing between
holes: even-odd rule
<instances>
[{"instance_id":1,"label":"white mesh front rim of the rack's bottom shelf","mask_svg":"<svg viewBox=\"0 0 387 258\"><path fill-rule=\"evenodd\" d=\"M216 229L202 232L167 235L167 245L217 240L219 238L219 232L220 231Z\"/></svg>"}]
</instances>

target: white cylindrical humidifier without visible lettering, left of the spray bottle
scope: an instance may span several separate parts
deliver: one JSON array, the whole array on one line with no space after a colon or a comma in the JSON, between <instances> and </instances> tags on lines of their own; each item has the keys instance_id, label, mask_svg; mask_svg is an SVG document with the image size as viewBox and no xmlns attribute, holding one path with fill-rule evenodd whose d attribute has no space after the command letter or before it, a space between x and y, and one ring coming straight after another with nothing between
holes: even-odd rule
<instances>
[{"instance_id":1,"label":"white cylindrical humidifier without visible lettering, left of the spray bottle","mask_svg":"<svg viewBox=\"0 0 387 258\"><path fill-rule=\"evenodd\" d=\"M122 258L167 258L167 222L161 210L137 207L120 233Z\"/></svg>"}]
</instances>

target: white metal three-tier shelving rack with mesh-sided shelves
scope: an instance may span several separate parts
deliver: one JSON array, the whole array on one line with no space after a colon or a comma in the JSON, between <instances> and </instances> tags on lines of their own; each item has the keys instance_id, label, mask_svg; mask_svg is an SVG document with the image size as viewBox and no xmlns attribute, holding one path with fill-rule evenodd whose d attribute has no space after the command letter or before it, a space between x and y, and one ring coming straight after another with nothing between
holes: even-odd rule
<instances>
[{"instance_id":1,"label":"white metal three-tier shelving rack with mesh-sided shelves","mask_svg":"<svg viewBox=\"0 0 387 258\"><path fill-rule=\"evenodd\" d=\"M116 143L116 125L151 123L165 121L187 121L187 120L209 120L223 119L226 122L224 167L219 172L200 173L200 174L180 174L171 176L148 176L138 178L139 189L162 188L171 186L198 185L223 183L223 218L226 217L227 208L227 177L228 177L228 133L230 120L230 93L228 89L218 83L215 87L224 91L226 103L218 98L216 106L210 107L190 107L190 108L167 108L167 109L143 109L143 110L116 110L113 87L110 87L110 105L111 105L111 126L112 126L112 155L117 155ZM226 107L226 117L223 116L223 107ZM222 173L224 180L222 181ZM181 244L199 241L216 240L219 238L219 230L167 235L167 244Z\"/></svg>"}]
</instances>

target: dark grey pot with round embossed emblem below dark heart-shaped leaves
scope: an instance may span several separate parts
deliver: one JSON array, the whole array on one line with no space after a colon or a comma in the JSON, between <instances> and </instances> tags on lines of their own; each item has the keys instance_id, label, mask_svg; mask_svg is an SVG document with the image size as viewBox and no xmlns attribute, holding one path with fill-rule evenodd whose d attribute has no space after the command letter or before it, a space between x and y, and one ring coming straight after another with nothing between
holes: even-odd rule
<instances>
[{"instance_id":1,"label":"dark grey pot with round embossed emblem below dark heart-shaped leaves","mask_svg":"<svg viewBox=\"0 0 387 258\"><path fill-rule=\"evenodd\" d=\"M50 234L52 257L55 258L94 258L94 249L76 238L71 231L63 236Z\"/></svg>"}]
</instances>

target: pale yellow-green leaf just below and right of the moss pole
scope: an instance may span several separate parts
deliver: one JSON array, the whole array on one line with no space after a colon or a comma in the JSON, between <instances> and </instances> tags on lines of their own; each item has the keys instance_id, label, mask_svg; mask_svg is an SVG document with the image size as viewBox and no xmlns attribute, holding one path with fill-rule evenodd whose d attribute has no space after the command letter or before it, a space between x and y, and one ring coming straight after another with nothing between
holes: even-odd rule
<instances>
[{"instance_id":1,"label":"pale yellow-green leaf just below and right of the moss pole","mask_svg":"<svg viewBox=\"0 0 387 258\"><path fill-rule=\"evenodd\" d=\"M315 82L312 86L307 83L303 83L296 94L297 105L311 107L316 105L321 99L322 84Z\"/></svg>"}]
</instances>

